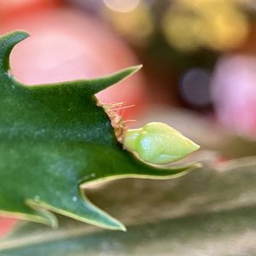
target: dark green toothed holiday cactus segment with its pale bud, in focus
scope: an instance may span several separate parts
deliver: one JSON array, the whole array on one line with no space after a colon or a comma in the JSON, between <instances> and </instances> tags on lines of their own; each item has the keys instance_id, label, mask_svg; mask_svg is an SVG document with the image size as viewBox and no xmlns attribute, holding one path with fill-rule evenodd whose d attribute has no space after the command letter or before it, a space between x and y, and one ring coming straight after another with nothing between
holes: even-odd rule
<instances>
[{"instance_id":1,"label":"dark green toothed holiday cactus segment with its pale bud, in focus","mask_svg":"<svg viewBox=\"0 0 256 256\"><path fill-rule=\"evenodd\" d=\"M139 67L101 79L20 84L9 72L9 55L27 37L11 32L0 38L0 213L55 226L56 212L125 230L81 188L121 177L179 177L198 164L160 164L182 159L199 146L165 124L125 131L111 108L97 101L97 92Z\"/></svg>"}]
</instances>

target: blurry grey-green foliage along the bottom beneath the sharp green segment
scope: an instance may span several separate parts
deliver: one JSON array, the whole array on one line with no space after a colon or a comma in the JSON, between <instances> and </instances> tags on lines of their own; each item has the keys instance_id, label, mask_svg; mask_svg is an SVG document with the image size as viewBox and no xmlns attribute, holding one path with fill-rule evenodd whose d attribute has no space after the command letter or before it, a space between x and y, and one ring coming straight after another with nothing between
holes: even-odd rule
<instances>
[{"instance_id":1,"label":"blurry grey-green foliage along the bottom beneath the sharp green segment","mask_svg":"<svg viewBox=\"0 0 256 256\"><path fill-rule=\"evenodd\" d=\"M98 230L69 219L61 219L61 229L55 231L38 224L24 224L1 241L0 253L254 255L255 167L255 158L236 160L218 167L208 166L164 184L124 180L91 189L90 198L118 216L128 226L127 233ZM151 207L153 204L157 207Z\"/></svg>"}]
</instances>

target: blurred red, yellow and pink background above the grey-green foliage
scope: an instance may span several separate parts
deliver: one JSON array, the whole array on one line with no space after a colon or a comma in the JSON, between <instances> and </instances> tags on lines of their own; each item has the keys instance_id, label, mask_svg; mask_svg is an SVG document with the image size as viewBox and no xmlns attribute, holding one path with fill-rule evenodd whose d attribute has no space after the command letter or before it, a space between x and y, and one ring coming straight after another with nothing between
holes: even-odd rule
<instances>
[{"instance_id":1,"label":"blurred red, yellow and pink background above the grey-green foliage","mask_svg":"<svg viewBox=\"0 0 256 256\"><path fill-rule=\"evenodd\" d=\"M256 154L255 18L254 0L3 0L0 32L32 35L11 55L26 84L142 63L99 100L123 102L128 125L172 125L219 162Z\"/></svg>"}]
</instances>

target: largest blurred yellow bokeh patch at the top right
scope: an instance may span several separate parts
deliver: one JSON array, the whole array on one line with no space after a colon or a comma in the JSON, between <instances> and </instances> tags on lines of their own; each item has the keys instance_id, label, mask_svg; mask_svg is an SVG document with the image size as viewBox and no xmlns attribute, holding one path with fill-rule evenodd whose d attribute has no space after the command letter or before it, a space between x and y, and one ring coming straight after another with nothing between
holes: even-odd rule
<instances>
[{"instance_id":1,"label":"largest blurred yellow bokeh patch at the top right","mask_svg":"<svg viewBox=\"0 0 256 256\"><path fill-rule=\"evenodd\" d=\"M178 0L166 11L162 28L169 44L187 51L233 49L248 33L238 0Z\"/></svg>"}]
</instances>

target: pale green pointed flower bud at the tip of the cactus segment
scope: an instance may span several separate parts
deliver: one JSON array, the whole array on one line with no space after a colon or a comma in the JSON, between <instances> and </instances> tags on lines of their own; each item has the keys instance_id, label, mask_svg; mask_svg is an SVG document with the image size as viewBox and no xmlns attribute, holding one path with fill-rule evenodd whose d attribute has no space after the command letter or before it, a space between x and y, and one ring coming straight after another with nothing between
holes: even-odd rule
<instances>
[{"instance_id":1,"label":"pale green pointed flower bud at the tip of the cactus segment","mask_svg":"<svg viewBox=\"0 0 256 256\"><path fill-rule=\"evenodd\" d=\"M149 123L125 132L124 147L151 164L180 160L200 148L179 131L163 123Z\"/></svg>"}]
</instances>

